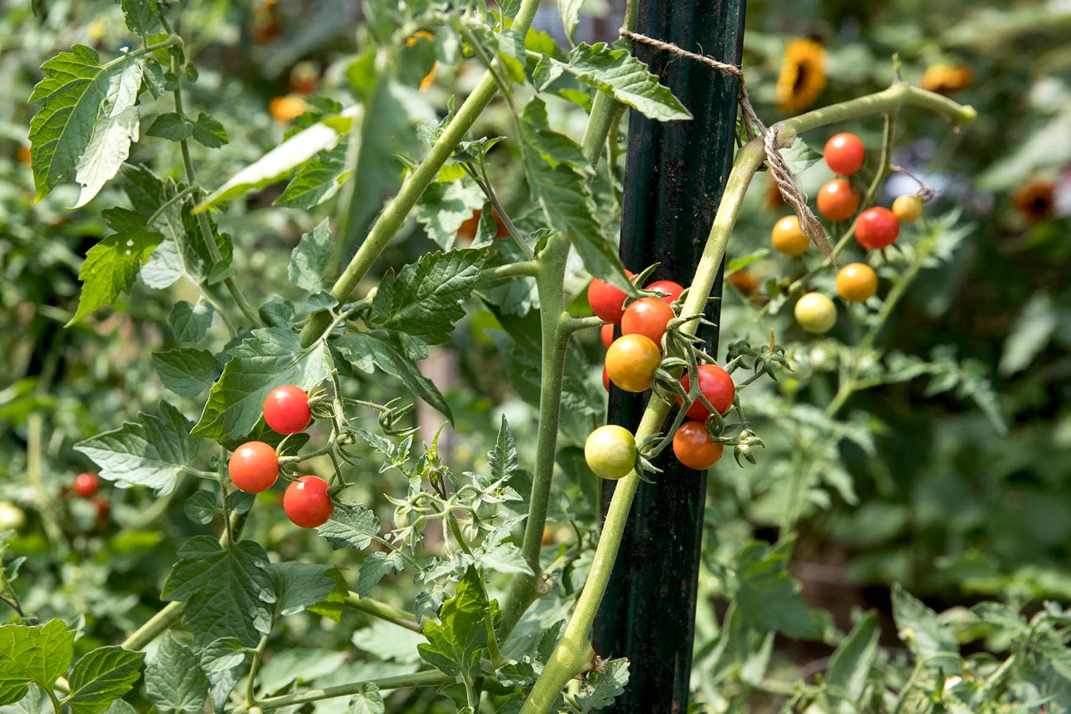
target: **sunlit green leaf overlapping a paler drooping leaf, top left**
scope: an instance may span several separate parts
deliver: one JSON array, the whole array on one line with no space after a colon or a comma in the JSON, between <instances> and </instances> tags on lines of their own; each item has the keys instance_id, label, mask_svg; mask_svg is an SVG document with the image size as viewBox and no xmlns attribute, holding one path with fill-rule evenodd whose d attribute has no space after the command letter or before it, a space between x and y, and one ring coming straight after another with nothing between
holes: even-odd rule
<instances>
[{"instance_id":1,"label":"sunlit green leaf overlapping a paler drooping leaf, top left","mask_svg":"<svg viewBox=\"0 0 1071 714\"><path fill-rule=\"evenodd\" d=\"M102 65L90 47L75 45L41 65L44 78L33 88L32 104L41 110L30 120L30 156L35 199L47 196L65 181L86 153L93 137L101 106L111 78L120 75L130 58Z\"/></svg>"}]
</instances>

